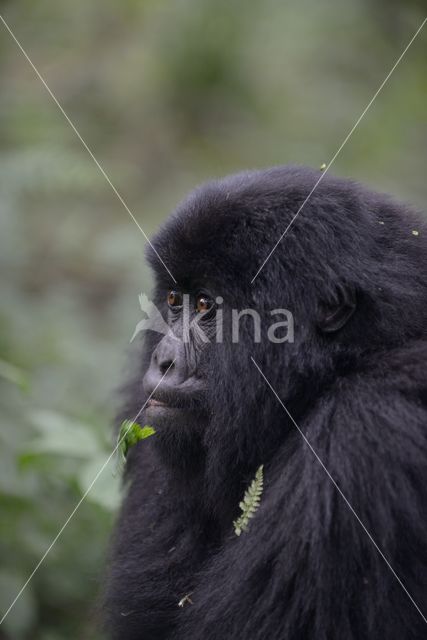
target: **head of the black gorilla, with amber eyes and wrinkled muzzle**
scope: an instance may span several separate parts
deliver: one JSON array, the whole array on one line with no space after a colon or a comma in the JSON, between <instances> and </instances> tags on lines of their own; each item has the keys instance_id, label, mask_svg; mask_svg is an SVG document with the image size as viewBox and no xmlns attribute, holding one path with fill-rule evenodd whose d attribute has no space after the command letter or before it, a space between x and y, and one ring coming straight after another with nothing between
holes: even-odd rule
<instances>
[{"instance_id":1,"label":"head of the black gorilla, with amber eyes and wrinkled muzzle","mask_svg":"<svg viewBox=\"0 0 427 640\"><path fill-rule=\"evenodd\" d=\"M361 358L425 330L419 221L342 180L325 176L252 281L318 175L275 168L204 185L148 248L172 331L148 348L146 421L169 461L195 470L219 448L229 480L229 464L253 465L283 440L285 417L251 356L297 420ZM237 322L248 309L259 320ZM268 339L277 309L294 325L279 343Z\"/></svg>"}]
</instances>

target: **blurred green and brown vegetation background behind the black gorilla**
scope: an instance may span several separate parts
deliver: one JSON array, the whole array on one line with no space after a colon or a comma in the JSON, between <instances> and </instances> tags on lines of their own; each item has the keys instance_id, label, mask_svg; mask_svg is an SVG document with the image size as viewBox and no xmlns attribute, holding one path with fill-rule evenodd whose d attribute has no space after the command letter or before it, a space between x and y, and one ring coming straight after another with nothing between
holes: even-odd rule
<instances>
[{"instance_id":1,"label":"blurred green and brown vegetation background behind the black gorilla","mask_svg":"<svg viewBox=\"0 0 427 640\"><path fill-rule=\"evenodd\" d=\"M425 2L0 2L150 234L201 180L327 162ZM113 446L114 389L148 292L144 238L0 24L0 610ZM333 171L423 207L427 32ZM118 502L107 468L0 628L96 638Z\"/></svg>"}]
</instances>

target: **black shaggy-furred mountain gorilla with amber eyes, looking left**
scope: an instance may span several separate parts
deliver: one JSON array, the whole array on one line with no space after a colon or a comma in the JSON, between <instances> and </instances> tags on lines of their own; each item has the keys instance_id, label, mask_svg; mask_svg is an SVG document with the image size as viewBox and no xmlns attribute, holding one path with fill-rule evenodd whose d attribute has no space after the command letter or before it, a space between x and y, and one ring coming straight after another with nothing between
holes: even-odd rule
<instances>
[{"instance_id":1,"label":"black shaggy-furred mountain gorilla with amber eyes, looking left","mask_svg":"<svg viewBox=\"0 0 427 640\"><path fill-rule=\"evenodd\" d=\"M146 333L122 414L146 402L156 433L127 461L109 637L427 636L427 229L324 175L254 279L320 175L209 182L153 239L171 330Z\"/></svg>"}]
</instances>

